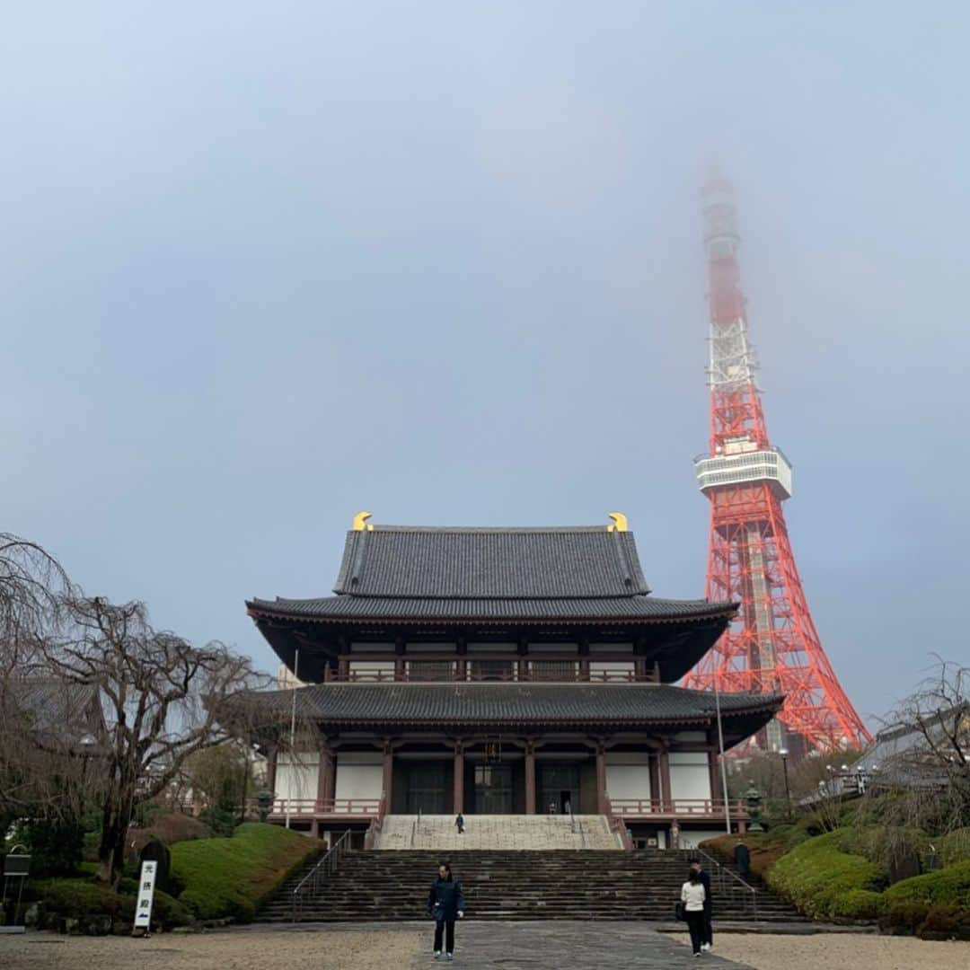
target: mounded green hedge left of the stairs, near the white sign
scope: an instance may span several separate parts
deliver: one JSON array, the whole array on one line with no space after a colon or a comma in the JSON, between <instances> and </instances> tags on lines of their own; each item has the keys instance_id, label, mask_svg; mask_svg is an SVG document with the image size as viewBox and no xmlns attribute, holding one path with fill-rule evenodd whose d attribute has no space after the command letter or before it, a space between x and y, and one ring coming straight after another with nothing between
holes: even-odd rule
<instances>
[{"instance_id":1,"label":"mounded green hedge left of the stairs, near the white sign","mask_svg":"<svg viewBox=\"0 0 970 970\"><path fill-rule=\"evenodd\" d=\"M251 921L259 905L322 843L279 825L240 825L229 838L172 847L178 901L201 920Z\"/></svg>"}]
</instances>

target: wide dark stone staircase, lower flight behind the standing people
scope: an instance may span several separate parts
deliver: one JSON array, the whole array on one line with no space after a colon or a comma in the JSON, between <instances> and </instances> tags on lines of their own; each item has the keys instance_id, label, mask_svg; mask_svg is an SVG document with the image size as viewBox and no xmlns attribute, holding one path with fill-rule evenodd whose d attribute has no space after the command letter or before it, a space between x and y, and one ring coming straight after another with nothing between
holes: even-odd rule
<instances>
[{"instance_id":1,"label":"wide dark stone staircase, lower flight behind the standing people","mask_svg":"<svg viewBox=\"0 0 970 970\"><path fill-rule=\"evenodd\" d=\"M304 921L425 919L437 863L447 857L465 889L469 920L673 919L687 872L687 857L673 850L531 850L350 852L338 871L302 905ZM305 870L305 872L308 871ZM262 921L289 921L293 889L284 885L263 907ZM718 921L803 921L760 890L757 913L745 889L714 887Z\"/></svg>"}]
</instances>

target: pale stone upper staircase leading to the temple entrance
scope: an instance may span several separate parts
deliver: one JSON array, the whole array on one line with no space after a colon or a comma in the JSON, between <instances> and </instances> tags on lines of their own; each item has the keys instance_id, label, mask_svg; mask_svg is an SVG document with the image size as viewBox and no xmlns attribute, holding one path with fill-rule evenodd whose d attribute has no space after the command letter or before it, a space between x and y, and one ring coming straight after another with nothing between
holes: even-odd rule
<instances>
[{"instance_id":1,"label":"pale stone upper staircase leading to the temple entrance","mask_svg":"<svg viewBox=\"0 0 970 970\"><path fill-rule=\"evenodd\" d=\"M375 849L430 849L448 855L463 850L621 850L618 836L601 815L469 815L458 834L453 815L388 815Z\"/></svg>"}]
</instances>

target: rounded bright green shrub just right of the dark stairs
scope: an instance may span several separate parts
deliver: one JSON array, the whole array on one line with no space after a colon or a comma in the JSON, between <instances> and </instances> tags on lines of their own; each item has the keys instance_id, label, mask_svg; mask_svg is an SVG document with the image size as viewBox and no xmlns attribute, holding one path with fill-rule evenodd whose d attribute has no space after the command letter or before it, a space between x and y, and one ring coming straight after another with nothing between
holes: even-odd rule
<instances>
[{"instance_id":1,"label":"rounded bright green shrub just right of the dark stairs","mask_svg":"<svg viewBox=\"0 0 970 970\"><path fill-rule=\"evenodd\" d=\"M768 885L811 917L871 919L886 873L867 858L843 852L844 837L836 829L803 842L768 871ZM856 916L859 912L867 915Z\"/></svg>"}]
</instances>

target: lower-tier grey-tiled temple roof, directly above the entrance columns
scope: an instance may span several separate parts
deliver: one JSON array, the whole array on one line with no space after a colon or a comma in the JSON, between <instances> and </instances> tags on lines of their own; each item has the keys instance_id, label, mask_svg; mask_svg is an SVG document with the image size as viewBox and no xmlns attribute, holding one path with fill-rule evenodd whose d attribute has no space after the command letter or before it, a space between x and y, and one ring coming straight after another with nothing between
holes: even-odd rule
<instances>
[{"instance_id":1,"label":"lower-tier grey-tiled temple roof, directly above the entrance columns","mask_svg":"<svg viewBox=\"0 0 970 970\"><path fill-rule=\"evenodd\" d=\"M293 692L257 695L288 712ZM726 719L766 723L781 695L723 694ZM648 725L708 722L714 695L658 684L316 684L296 691L297 713L335 725ZM754 728L754 729L757 729Z\"/></svg>"}]
</instances>

